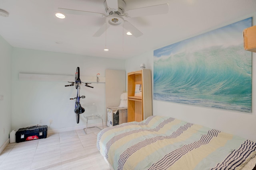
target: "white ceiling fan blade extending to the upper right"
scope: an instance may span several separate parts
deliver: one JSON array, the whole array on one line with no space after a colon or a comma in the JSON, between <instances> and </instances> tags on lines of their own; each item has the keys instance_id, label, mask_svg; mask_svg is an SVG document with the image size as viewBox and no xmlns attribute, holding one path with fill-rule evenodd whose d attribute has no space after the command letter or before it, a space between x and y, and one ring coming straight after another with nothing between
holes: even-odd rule
<instances>
[{"instance_id":1,"label":"white ceiling fan blade extending to the upper right","mask_svg":"<svg viewBox=\"0 0 256 170\"><path fill-rule=\"evenodd\" d=\"M128 10L125 12L125 16L130 18L150 16L150 15L157 15L157 14L167 14L168 11L169 11L168 4L160 4L160 5L147 6L143 8Z\"/></svg>"}]
</instances>

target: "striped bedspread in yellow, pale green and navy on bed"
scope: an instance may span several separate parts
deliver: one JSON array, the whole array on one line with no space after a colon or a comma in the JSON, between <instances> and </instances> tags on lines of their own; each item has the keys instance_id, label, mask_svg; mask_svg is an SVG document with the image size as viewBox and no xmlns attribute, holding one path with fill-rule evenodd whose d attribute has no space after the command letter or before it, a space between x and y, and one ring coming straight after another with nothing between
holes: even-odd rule
<instances>
[{"instance_id":1,"label":"striped bedspread in yellow, pale green and navy on bed","mask_svg":"<svg viewBox=\"0 0 256 170\"><path fill-rule=\"evenodd\" d=\"M240 170L256 155L255 142L171 117L108 127L97 138L115 170Z\"/></svg>"}]
</instances>

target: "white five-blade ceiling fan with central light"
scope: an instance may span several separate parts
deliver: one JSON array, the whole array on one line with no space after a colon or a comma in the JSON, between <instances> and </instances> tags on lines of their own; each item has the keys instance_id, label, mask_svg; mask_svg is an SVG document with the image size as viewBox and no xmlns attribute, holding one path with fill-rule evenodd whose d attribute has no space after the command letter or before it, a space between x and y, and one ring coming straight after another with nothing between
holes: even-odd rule
<instances>
[{"instance_id":1,"label":"white five-blade ceiling fan with central light","mask_svg":"<svg viewBox=\"0 0 256 170\"><path fill-rule=\"evenodd\" d=\"M146 6L142 8L126 10L126 2L124 0L105 0L104 1L105 14L98 12L89 12L81 10L73 10L66 8L58 8L59 12L64 14L74 14L74 15L86 15L86 16L98 16L106 17L106 22L94 33L94 37L99 37L102 35L106 29L110 26L120 26L122 25L124 29L132 33L135 37L140 37L143 35L134 25L130 22L124 20L124 18L134 18L141 16L149 16L156 14L167 14L169 10L168 4L159 4L154 6Z\"/></svg>"}]
</instances>

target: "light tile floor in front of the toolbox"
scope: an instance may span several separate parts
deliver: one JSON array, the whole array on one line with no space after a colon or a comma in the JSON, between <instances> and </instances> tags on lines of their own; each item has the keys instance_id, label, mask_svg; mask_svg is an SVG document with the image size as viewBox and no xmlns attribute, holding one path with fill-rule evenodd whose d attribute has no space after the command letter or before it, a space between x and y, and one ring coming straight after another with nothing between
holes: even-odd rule
<instances>
[{"instance_id":1,"label":"light tile floor in front of the toolbox","mask_svg":"<svg viewBox=\"0 0 256 170\"><path fill-rule=\"evenodd\" d=\"M9 143L0 170L110 170L96 148L100 129L48 134L45 139Z\"/></svg>"}]
</instances>

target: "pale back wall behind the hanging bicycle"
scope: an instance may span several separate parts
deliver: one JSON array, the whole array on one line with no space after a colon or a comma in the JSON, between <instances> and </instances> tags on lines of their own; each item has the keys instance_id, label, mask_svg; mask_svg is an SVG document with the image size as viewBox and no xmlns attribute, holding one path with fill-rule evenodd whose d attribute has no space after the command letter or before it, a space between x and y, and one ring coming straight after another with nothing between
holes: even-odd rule
<instances>
[{"instance_id":1,"label":"pale back wall behind the hanging bicycle","mask_svg":"<svg viewBox=\"0 0 256 170\"><path fill-rule=\"evenodd\" d=\"M80 123L76 123L75 101L69 100L76 96L74 86L65 87L69 83L61 81L19 80L19 73L74 75L76 67L79 66L80 76L96 77L100 73L100 78L105 77L106 69L124 70L124 64L124 60L13 48L12 129L36 125L40 119L41 125L48 125L49 130L86 125L82 114ZM96 103L106 122L105 84L91 85L94 86L93 89L82 86L80 95L85 95L86 98L81 99L81 104Z\"/></svg>"}]
</instances>

